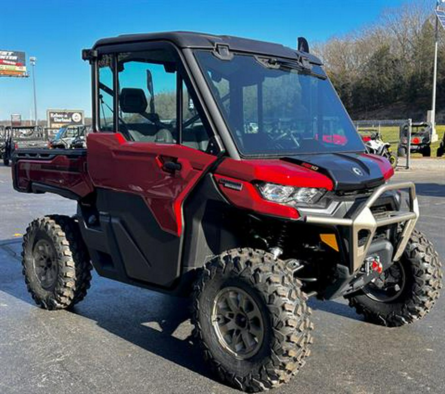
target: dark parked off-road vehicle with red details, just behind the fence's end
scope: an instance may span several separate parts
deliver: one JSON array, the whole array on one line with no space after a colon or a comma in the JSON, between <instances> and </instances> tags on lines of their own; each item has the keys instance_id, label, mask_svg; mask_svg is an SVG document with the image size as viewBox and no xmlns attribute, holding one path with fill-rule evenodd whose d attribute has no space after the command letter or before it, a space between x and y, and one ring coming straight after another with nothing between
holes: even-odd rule
<instances>
[{"instance_id":1,"label":"dark parked off-road vehicle with red details, just behind the fence's end","mask_svg":"<svg viewBox=\"0 0 445 394\"><path fill-rule=\"evenodd\" d=\"M398 156L405 157L408 151L409 126L404 124L400 128L400 142ZM432 126L428 122L413 123L411 126L410 152L421 153L422 156L431 156Z\"/></svg>"}]
</instances>

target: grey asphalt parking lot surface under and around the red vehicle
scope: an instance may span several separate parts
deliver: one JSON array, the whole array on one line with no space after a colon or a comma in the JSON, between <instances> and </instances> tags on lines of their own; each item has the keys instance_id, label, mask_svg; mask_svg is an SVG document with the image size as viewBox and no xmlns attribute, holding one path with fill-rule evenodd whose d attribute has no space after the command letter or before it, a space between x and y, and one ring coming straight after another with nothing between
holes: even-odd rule
<instances>
[{"instance_id":1,"label":"grey asphalt parking lot surface under and around the red vehicle","mask_svg":"<svg viewBox=\"0 0 445 394\"><path fill-rule=\"evenodd\" d=\"M413 162L394 179L416 182L417 228L444 261L445 166ZM191 344L187 300L94 275L72 311L35 306L21 274L21 235L38 216L75 209L55 195L15 192L0 166L0 393L237 393ZM445 392L445 297L422 321L395 329L364 322L344 300L310 305L312 355L271 393Z\"/></svg>"}]
</instances>

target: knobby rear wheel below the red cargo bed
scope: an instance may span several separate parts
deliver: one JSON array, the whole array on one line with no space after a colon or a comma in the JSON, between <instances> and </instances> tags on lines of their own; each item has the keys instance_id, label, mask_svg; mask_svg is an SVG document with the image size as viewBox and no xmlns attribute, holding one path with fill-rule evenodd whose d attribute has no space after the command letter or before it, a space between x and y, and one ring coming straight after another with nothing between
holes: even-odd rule
<instances>
[{"instance_id":1,"label":"knobby rear wheel below the red cargo bed","mask_svg":"<svg viewBox=\"0 0 445 394\"><path fill-rule=\"evenodd\" d=\"M23 237L22 266L28 291L45 309L73 306L87 294L91 263L74 219L32 221Z\"/></svg>"}]
</instances>

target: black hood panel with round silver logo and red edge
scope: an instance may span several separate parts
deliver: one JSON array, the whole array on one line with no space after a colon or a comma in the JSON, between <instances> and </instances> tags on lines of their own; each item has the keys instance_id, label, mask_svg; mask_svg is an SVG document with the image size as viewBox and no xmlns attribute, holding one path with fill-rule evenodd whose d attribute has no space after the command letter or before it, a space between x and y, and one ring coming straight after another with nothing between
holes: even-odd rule
<instances>
[{"instance_id":1,"label":"black hood panel with round silver logo and red edge","mask_svg":"<svg viewBox=\"0 0 445 394\"><path fill-rule=\"evenodd\" d=\"M371 189L394 174L388 160L363 153L320 153L282 160L329 176L336 191Z\"/></svg>"}]
</instances>

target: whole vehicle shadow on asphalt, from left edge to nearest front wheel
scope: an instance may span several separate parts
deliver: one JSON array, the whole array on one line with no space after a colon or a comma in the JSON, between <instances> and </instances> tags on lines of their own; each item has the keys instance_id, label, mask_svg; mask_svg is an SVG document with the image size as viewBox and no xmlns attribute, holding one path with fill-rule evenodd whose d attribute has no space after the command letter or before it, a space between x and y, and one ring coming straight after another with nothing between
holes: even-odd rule
<instances>
[{"instance_id":1,"label":"whole vehicle shadow on asphalt, from left edge to nearest front wheel","mask_svg":"<svg viewBox=\"0 0 445 394\"><path fill-rule=\"evenodd\" d=\"M0 292L37 308L23 280L20 242L18 239L0 240ZM86 299L70 312L213 380L200 350L191 342L190 304L188 299L138 289L94 274Z\"/></svg>"}]
</instances>

